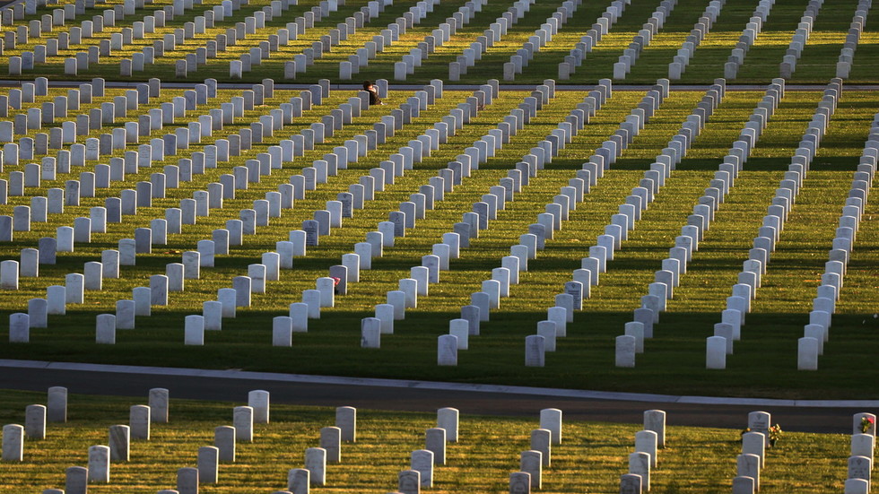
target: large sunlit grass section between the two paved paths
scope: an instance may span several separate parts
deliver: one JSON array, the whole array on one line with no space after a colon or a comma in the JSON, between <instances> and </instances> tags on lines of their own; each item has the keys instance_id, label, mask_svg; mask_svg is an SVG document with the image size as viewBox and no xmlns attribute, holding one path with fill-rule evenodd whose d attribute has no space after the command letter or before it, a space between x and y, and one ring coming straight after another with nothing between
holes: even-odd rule
<instances>
[{"instance_id":1,"label":"large sunlit grass section between the two paved paths","mask_svg":"<svg viewBox=\"0 0 879 494\"><path fill-rule=\"evenodd\" d=\"M117 94L113 91L104 100ZM175 91L165 91L163 98L174 94ZM232 94L223 92L221 100ZM300 301L302 290L313 288L314 280L325 276L330 265L339 264L342 255L352 252L354 243L362 241L366 232L376 230L378 222L387 219L388 212L395 211L401 201L408 200L418 186L426 184L437 169L444 168L466 146L487 134L527 94L502 91L492 106L451 137L439 152L433 152L429 159L407 171L405 177L397 178L366 209L355 211L354 218L344 221L344 228L321 238L319 247L309 248L308 256L295 259L294 269L283 271L280 282L269 282L265 294L254 295L252 307L239 308L237 318L224 320L222 332L209 332L204 347L183 345L184 316L200 314L202 302L215 299L216 290L230 287L232 276L246 274L247 265L259 263L261 254L274 250L276 241L286 240L289 230L299 230L301 221L310 219L312 212L323 209L327 200L335 200L338 192L346 191L359 176L387 159L388 153L396 152L399 146L448 114L449 108L455 108L467 93L448 91L434 108L379 150L341 170L328 184L310 192L307 199L297 201L292 211L283 212L282 218L273 219L270 226L259 228L257 236L246 237L245 245L233 247L230 256L218 256L216 267L203 269L200 280L187 280L185 292L170 294L169 306L154 307L151 317L138 317L134 331L117 332L116 345L94 343L96 315L113 313L117 299L130 299L132 288L148 286L149 275L164 273L165 264L180 262L181 253L194 249L197 240L210 238L213 229L223 228L226 220L238 217L240 209L252 207L253 200L276 190L278 184L331 151L334 145L371 128L372 122L409 94L392 92L387 106L370 109L302 159L286 165L284 170L274 170L272 176L251 184L247 191L238 191L236 199L227 200L222 210L213 210L210 217L199 218L197 225L186 226L183 234L170 236L167 246L155 246L152 254L139 255L136 266L123 268L121 279L105 280L103 290L87 292L85 304L69 306L66 316L50 316L47 329L31 332L30 344L8 343L4 327L4 333L0 333L0 356L669 394L875 397L868 386L849 378L853 368L870 367L876 346L872 334L879 327L874 316L879 298L875 275L879 265L875 205L866 209L820 370L796 370L796 339L802 336L802 328L808 322L808 310L815 287L820 284L833 230L875 112L874 96L858 91L843 93L840 108L781 235L769 273L763 277L763 288L758 291L753 314L748 316L743 329L743 341L736 343L735 355L727 359L725 371L704 369L705 338L719 322L725 299L731 294L736 275L747 258L747 249L762 224L762 215L820 100L819 92L788 91L727 202L718 211L689 272L683 275L681 286L669 301L668 311L661 316L656 337L647 343L647 351L638 357L636 368L614 367L614 337L622 334L624 323L631 320L632 309L639 307L640 296L647 293L660 260L667 256L668 248L674 247L674 237L679 235L686 215L762 98L761 91L727 94L688 157L660 190L656 202L644 212L622 251L609 263L608 273L601 275L601 284L593 287L592 299L585 302L584 310L569 325L568 337L560 340L558 351L547 354L545 368L524 366L525 336L534 334L536 323L546 318L545 311L553 306L553 296L561 292L571 272L580 267L580 258L587 256L596 236L604 233L604 225L617 212L618 204L631 194L631 187L638 185L643 170L648 169L678 131L701 98L701 92L672 93L621 160L571 212L570 221L556 232L556 238L529 263L528 272L521 273L520 283L511 288L509 299L503 299L500 310L492 312L492 320L483 323L482 335L472 337L470 350L459 353L457 367L436 366L436 338L448 332L448 321L459 316L460 307L469 303L471 293L481 290L481 282L491 277L492 268L500 265L500 257L508 255L509 247L518 244L518 236L527 231L527 225L535 221L538 212L544 211L544 204L552 201L559 187L566 186L593 150L613 134L640 100L641 92L616 91L573 143L551 165L540 170L505 211L499 212L498 220L491 222L489 230L483 230L472 247L462 250L461 258L452 261L451 271L440 274L440 282L431 286L430 296L422 297L418 308L407 310L405 320L396 322L395 334L384 335L380 350L360 348L361 318L373 316L375 304L385 302L387 290L396 290L398 280L409 276L411 266L421 264L421 257L430 254L431 246L441 241L441 234L461 221L461 215L470 211L489 186L496 185L507 169L513 168L523 154L549 134L585 92L560 91L496 157L447 194L446 200L428 212L426 219L417 222L415 230L408 230L405 238L397 238L396 247L387 248L385 256L374 259L372 270L361 271L361 282L352 285L349 295L338 298L335 308L325 308L320 319L309 321L309 333L294 334L292 348L271 346L274 316L285 316L288 305ZM245 122L227 126L215 132L213 138L237 132L251 118L256 119L266 108L274 108L291 95L276 91L265 108L249 112ZM232 166L252 159L266 145L318 120L348 96L344 91L334 91L325 106L309 110L294 126L285 127L283 132L231 162L222 163L219 169L208 170L205 176L181 184L180 189L169 189L168 197L154 200L152 209L144 208L121 224L109 225L106 234L92 236L91 244L77 245L76 252L59 255L57 265L41 266L39 278L22 278L20 290L0 292L0 320L8 320L13 312L25 311L28 299L45 297L46 287L64 284L66 273L81 272L84 262L100 260L100 251L116 248L118 238L130 238L135 228L148 227L152 218L164 217L163 208L177 207L179 199L191 197L193 191L204 189L206 184L218 180L220 174L230 172ZM206 112L206 108L192 115ZM204 143L208 141L205 139ZM195 145L193 150L199 147ZM176 159L171 157L165 163L176 163ZM4 173L13 169L6 167ZM15 241L2 247L3 258L17 259L20 249L34 247L40 237L54 236L58 225L69 225L77 216L88 216L88 207L103 204L104 196L118 195L120 189L148 179L151 172L158 170L155 166L142 169L137 177L126 178L124 184L99 189L99 198L83 199L83 205L66 208L65 214L51 217L49 223L33 223L30 232L16 232ZM59 176L56 183L45 181L43 188L27 192L45 195L45 188L63 186L64 179ZM11 197L9 203L3 209L6 214L12 212L15 204L30 204L30 197Z\"/></svg>"}]
</instances>

